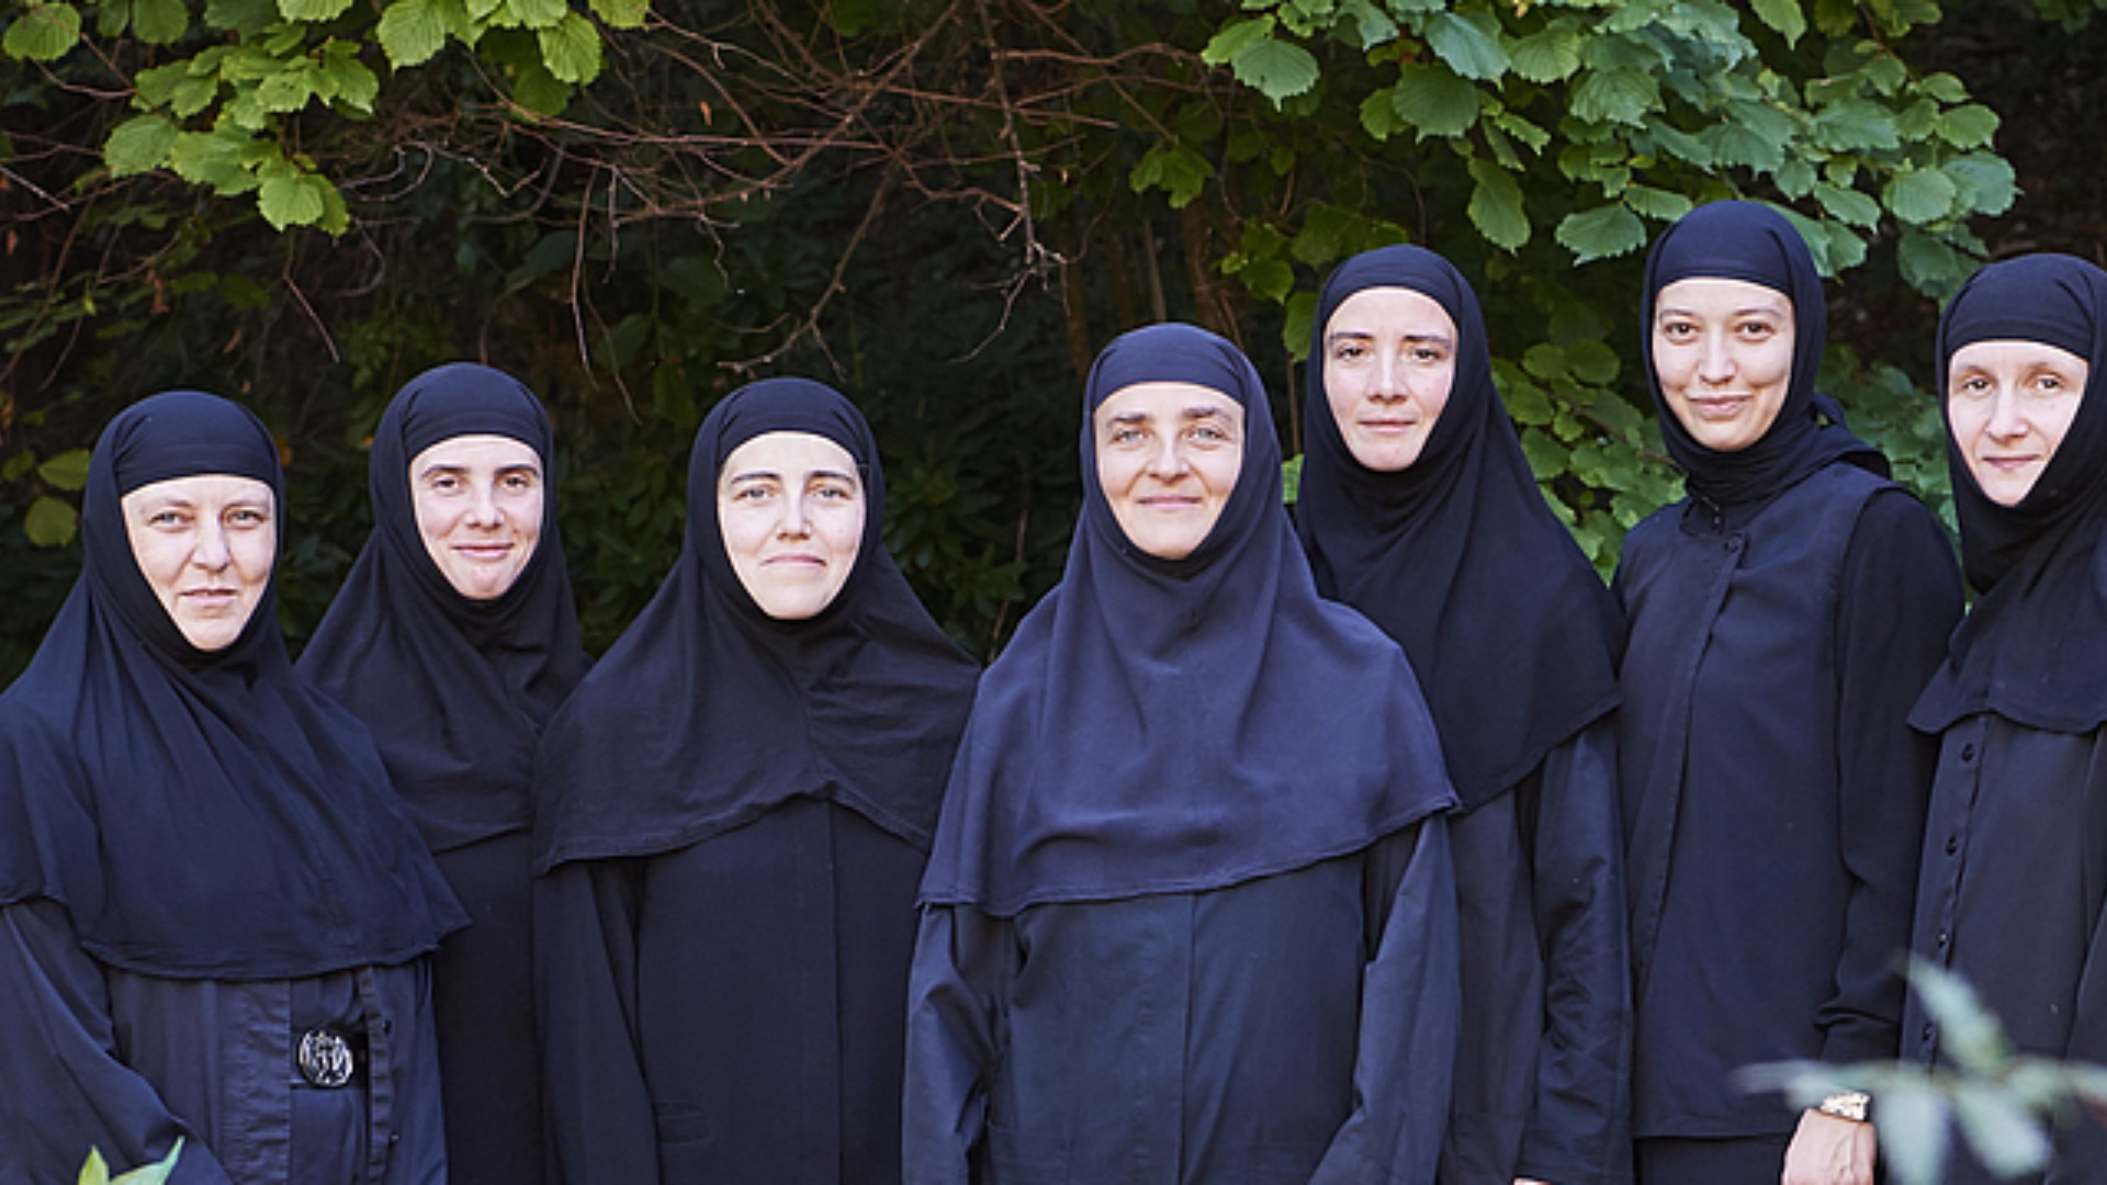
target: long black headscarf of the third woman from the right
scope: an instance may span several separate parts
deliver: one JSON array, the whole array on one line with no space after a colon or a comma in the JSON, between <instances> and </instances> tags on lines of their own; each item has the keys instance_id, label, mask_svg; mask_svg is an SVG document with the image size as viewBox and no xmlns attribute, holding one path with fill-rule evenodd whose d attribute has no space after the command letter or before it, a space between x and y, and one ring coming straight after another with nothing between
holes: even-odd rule
<instances>
[{"instance_id":1,"label":"long black headscarf of the third woman from the right","mask_svg":"<svg viewBox=\"0 0 2107 1185\"><path fill-rule=\"evenodd\" d=\"M1456 377L1420 458L1376 472L1325 399L1332 314L1365 289L1412 289L1456 323ZM1519 782L1618 702L1616 599L1544 506L1492 386L1477 293L1422 247L1340 264L1311 327L1298 527L1317 590L1397 639L1426 692L1464 810Z\"/></svg>"}]
</instances>

